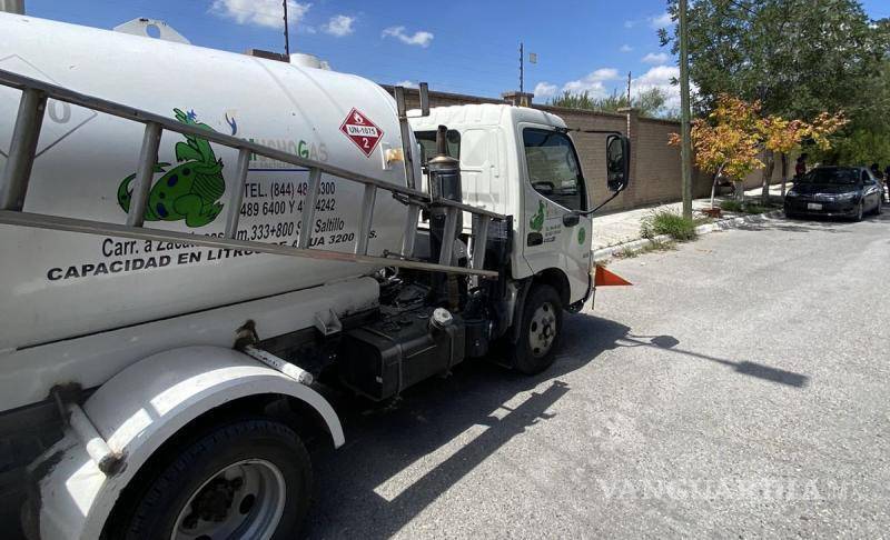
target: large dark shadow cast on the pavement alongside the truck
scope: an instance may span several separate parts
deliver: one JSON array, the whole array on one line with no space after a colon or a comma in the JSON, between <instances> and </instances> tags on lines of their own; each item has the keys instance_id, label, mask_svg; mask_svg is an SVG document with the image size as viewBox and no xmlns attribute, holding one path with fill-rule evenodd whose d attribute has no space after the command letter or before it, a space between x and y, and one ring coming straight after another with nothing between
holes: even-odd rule
<instances>
[{"instance_id":1,"label":"large dark shadow cast on the pavement alongside the truck","mask_svg":"<svg viewBox=\"0 0 890 540\"><path fill-rule=\"evenodd\" d=\"M567 316L560 356L540 376L468 361L448 378L405 391L395 407L363 410L356 403L338 411L347 443L313 457L316 501L304 536L376 539L398 532L513 437L552 418L546 411L571 391L560 377L595 362L629 331L597 317ZM466 442L448 446L456 438Z\"/></svg>"}]
</instances>

